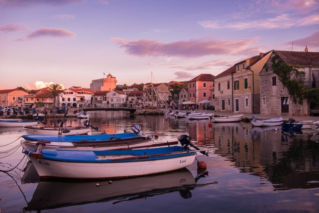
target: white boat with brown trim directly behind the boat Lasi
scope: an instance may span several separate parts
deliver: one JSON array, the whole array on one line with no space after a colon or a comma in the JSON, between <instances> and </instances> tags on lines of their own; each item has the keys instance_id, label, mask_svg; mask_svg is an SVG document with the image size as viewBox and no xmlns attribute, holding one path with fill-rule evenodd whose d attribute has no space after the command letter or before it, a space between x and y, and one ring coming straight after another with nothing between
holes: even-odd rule
<instances>
[{"instance_id":1,"label":"white boat with brown trim directly behind the boat Lasi","mask_svg":"<svg viewBox=\"0 0 319 213\"><path fill-rule=\"evenodd\" d=\"M63 150L121 150L121 149L145 149L151 147L177 146L178 141L155 143L154 138L138 137L96 142L58 142L58 141L26 141L21 140L21 145L26 150L63 149Z\"/></svg>"}]
</instances>

